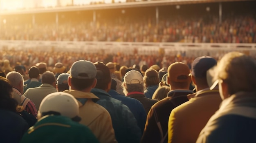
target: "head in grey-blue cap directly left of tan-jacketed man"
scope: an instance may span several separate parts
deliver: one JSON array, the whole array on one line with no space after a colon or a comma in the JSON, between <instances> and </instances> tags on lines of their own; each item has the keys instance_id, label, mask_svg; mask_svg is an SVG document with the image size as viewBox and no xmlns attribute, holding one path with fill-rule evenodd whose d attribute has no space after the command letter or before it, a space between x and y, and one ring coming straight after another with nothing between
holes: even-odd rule
<instances>
[{"instance_id":1,"label":"head in grey-blue cap directly left of tan-jacketed man","mask_svg":"<svg viewBox=\"0 0 256 143\"><path fill-rule=\"evenodd\" d=\"M58 75L56 79L56 84L58 85L58 91L64 91L69 89L69 85L67 84L67 79L70 76L68 73L62 73Z\"/></svg>"}]
</instances>

